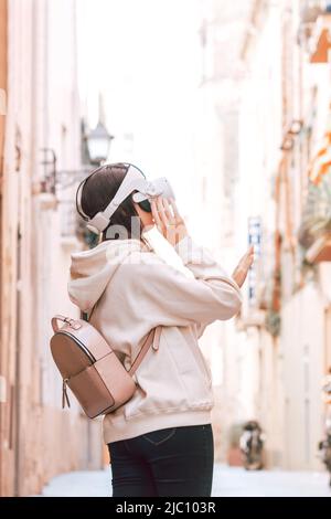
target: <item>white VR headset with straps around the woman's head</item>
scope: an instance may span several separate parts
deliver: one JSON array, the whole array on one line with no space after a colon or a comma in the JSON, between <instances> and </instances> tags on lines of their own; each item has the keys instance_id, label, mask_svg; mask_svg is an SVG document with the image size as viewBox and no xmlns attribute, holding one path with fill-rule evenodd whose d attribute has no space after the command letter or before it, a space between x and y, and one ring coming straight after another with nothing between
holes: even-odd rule
<instances>
[{"instance_id":1,"label":"white VR headset with straps around the woman's head","mask_svg":"<svg viewBox=\"0 0 331 519\"><path fill-rule=\"evenodd\" d=\"M99 211L95 216L92 219L84 213L82 209L82 191L85 186L85 182L89 179L92 174L102 173L103 169L111 168L118 166L125 166L128 168L126 176L119 186L115 197L110 200L109 204L104 211ZM99 234L100 232L105 231L105 229L109 225L111 215L115 213L117 208L121 204L121 202L130 194L132 191L138 191L137 193L132 194L134 202L137 202L141 209L145 211L151 212L151 206L149 201L156 197L162 195L164 198L173 198L174 193L173 190L167 180L166 177L160 177L154 180L147 180L143 172L131 163L114 163L114 165L105 165L100 168L94 170L88 177L86 177L78 186L76 192L76 208L81 216L87 221L86 224L87 229L95 234Z\"/></svg>"}]
</instances>

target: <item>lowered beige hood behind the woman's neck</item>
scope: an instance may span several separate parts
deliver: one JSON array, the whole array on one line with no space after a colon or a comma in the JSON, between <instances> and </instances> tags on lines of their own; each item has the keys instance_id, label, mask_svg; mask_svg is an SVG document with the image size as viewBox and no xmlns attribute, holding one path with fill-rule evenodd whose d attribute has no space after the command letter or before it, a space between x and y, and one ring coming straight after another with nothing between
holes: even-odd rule
<instances>
[{"instance_id":1,"label":"lowered beige hood behind the woman's neck","mask_svg":"<svg viewBox=\"0 0 331 519\"><path fill-rule=\"evenodd\" d=\"M108 240L71 254L67 292L72 303L89 311L111 282L118 266L136 251L150 251L140 240Z\"/></svg>"}]
</instances>

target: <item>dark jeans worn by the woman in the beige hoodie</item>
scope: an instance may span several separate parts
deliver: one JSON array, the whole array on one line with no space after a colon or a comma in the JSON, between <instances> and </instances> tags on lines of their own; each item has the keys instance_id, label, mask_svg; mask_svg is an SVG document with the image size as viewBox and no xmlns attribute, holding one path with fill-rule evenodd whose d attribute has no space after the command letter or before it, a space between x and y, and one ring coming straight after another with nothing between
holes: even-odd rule
<instances>
[{"instance_id":1,"label":"dark jeans worn by the woman in the beige hoodie","mask_svg":"<svg viewBox=\"0 0 331 519\"><path fill-rule=\"evenodd\" d=\"M113 497L210 497L211 424L169 427L108 444Z\"/></svg>"}]
</instances>

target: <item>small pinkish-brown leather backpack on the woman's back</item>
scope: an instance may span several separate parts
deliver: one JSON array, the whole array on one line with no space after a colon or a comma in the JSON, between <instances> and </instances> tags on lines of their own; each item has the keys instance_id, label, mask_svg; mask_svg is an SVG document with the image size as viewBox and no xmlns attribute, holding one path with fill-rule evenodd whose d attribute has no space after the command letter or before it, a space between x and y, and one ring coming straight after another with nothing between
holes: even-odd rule
<instances>
[{"instance_id":1,"label":"small pinkish-brown leather backpack on the woman's back","mask_svg":"<svg viewBox=\"0 0 331 519\"><path fill-rule=\"evenodd\" d=\"M64 325L60 328L57 321ZM56 315L52 318L54 335L51 351L63 378L62 406L70 406L68 386L89 419L111 413L128 402L135 391L134 373L148 349L159 348L160 328L153 328L126 370L111 347L89 322Z\"/></svg>"}]
</instances>

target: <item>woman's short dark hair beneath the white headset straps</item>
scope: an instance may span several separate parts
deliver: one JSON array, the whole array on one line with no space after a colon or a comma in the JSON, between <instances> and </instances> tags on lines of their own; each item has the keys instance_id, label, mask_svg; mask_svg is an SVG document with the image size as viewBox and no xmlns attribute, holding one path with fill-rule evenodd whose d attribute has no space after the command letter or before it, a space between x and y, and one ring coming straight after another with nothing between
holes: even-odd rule
<instances>
[{"instance_id":1,"label":"woman's short dark hair beneath the white headset straps","mask_svg":"<svg viewBox=\"0 0 331 519\"><path fill-rule=\"evenodd\" d=\"M88 177L83 186L81 199L82 209L87 216L93 218L96 213L104 211L107 208L110 200L115 197L127 171L128 166L124 163L105 165ZM141 240L142 224L134 205L131 195L132 193L130 193L120 203L118 209L111 215L109 225L102 233L102 242L105 240L118 240L120 237L119 233L116 232L116 227L114 227L114 233L108 232L107 235L107 231L113 225L122 226L126 231L127 237ZM134 216L136 218L134 219Z\"/></svg>"}]
</instances>

